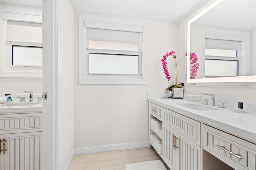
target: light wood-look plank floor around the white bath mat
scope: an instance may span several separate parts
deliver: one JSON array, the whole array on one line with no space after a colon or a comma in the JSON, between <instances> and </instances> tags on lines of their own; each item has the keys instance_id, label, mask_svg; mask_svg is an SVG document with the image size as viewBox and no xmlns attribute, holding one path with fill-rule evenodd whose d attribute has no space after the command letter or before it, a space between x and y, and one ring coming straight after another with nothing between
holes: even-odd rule
<instances>
[{"instance_id":1,"label":"light wood-look plank floor around the white bath mat","mask_svg":"<svg viewBox=\"0 0 256 170\"><path fill-rule=\"evenodd\" d=\"M125 170L125 164L162 160L154 148L76 155L69 170Z\"/></svg>"}]
</instances>

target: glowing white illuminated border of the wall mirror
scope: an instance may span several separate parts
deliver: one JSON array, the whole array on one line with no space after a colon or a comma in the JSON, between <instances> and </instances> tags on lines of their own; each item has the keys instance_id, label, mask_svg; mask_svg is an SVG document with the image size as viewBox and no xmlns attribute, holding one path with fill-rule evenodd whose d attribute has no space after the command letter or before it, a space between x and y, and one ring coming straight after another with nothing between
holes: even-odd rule
<instances>
[{"instance_id":1,"label":"glowing white illuminated border of the wall mirror","mask_svg":"<svg viewBox=\"0 0 256 170\"><path fill-rule=\"evenodd\" d=\"M186 20L186 52L190 54L190 26L192 22L200 18L202 15L206 14L212 8L217 6L223 2L223 0L211 0L205 6L203 6L200 10L195 12L192 16L190 16ZM188 55L189 56L189 55ZM187 57L186 62L186 70L187 72L190 70L190 59ZM190 71L187 73L186 82L187 83L215 83L215 82L256 82L256 75L249 76L240 76L240 77L214 77L214 78L198 78L198 79L190 79Z\"/></svg>"}]
</instances>

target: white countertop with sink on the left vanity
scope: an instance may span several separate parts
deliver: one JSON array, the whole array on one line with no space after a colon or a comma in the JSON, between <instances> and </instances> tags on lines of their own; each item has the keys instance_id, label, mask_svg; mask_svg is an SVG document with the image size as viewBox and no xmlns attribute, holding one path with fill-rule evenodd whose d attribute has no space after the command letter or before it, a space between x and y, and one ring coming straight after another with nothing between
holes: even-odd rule
<instances>
[{"instance_id":1,"label":"white countertop with sink on the left vanity","mask_svg":"<svg viewBox=\"0 0 256 170\"><path fill-rule=\"evenodd\" d=\"M18 102L14 102L18 103ZM27 102L26 102L27 103ZM43 103L36 103L35 105L24 105L22 106L8 106L1 104L0 106L0 114L14 114L14 113L42 113L43 111Z\"/></svg>"}]
</instances>

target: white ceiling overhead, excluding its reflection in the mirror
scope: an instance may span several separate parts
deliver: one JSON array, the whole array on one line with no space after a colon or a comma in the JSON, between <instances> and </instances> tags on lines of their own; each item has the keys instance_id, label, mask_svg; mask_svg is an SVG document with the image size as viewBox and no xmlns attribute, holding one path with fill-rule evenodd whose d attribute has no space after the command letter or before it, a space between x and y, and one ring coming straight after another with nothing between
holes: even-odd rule
<instances>
[{"instance_id":1,"label":"white ceiling overhead, excluding its reflection in the mirror","mask_svg":"<svg viewBox=\"0 0 256 170\"><path fill-rule=\"evenodd\" d=\"M42 0L1 0L42 7ZM70 0L74 11L164 22L180 22L203 0Z\"/></svg>"}]
</instances>

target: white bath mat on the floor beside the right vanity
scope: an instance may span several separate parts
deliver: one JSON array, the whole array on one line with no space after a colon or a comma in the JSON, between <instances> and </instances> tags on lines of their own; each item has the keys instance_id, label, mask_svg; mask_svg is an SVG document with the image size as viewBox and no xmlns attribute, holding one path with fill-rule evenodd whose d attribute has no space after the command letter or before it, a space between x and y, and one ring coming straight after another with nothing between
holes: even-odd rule
<instances>
[{"instance_id":1,"label":"white bath mat on the floor beside the right vanity","mask_svg":"<svg viewBox=\"0 0 256 170\"><path fill-rule=\"evenodd\" d=\"M167 170L161 160L125 164L126 170Z\"/></svg>"}]
</instances>

